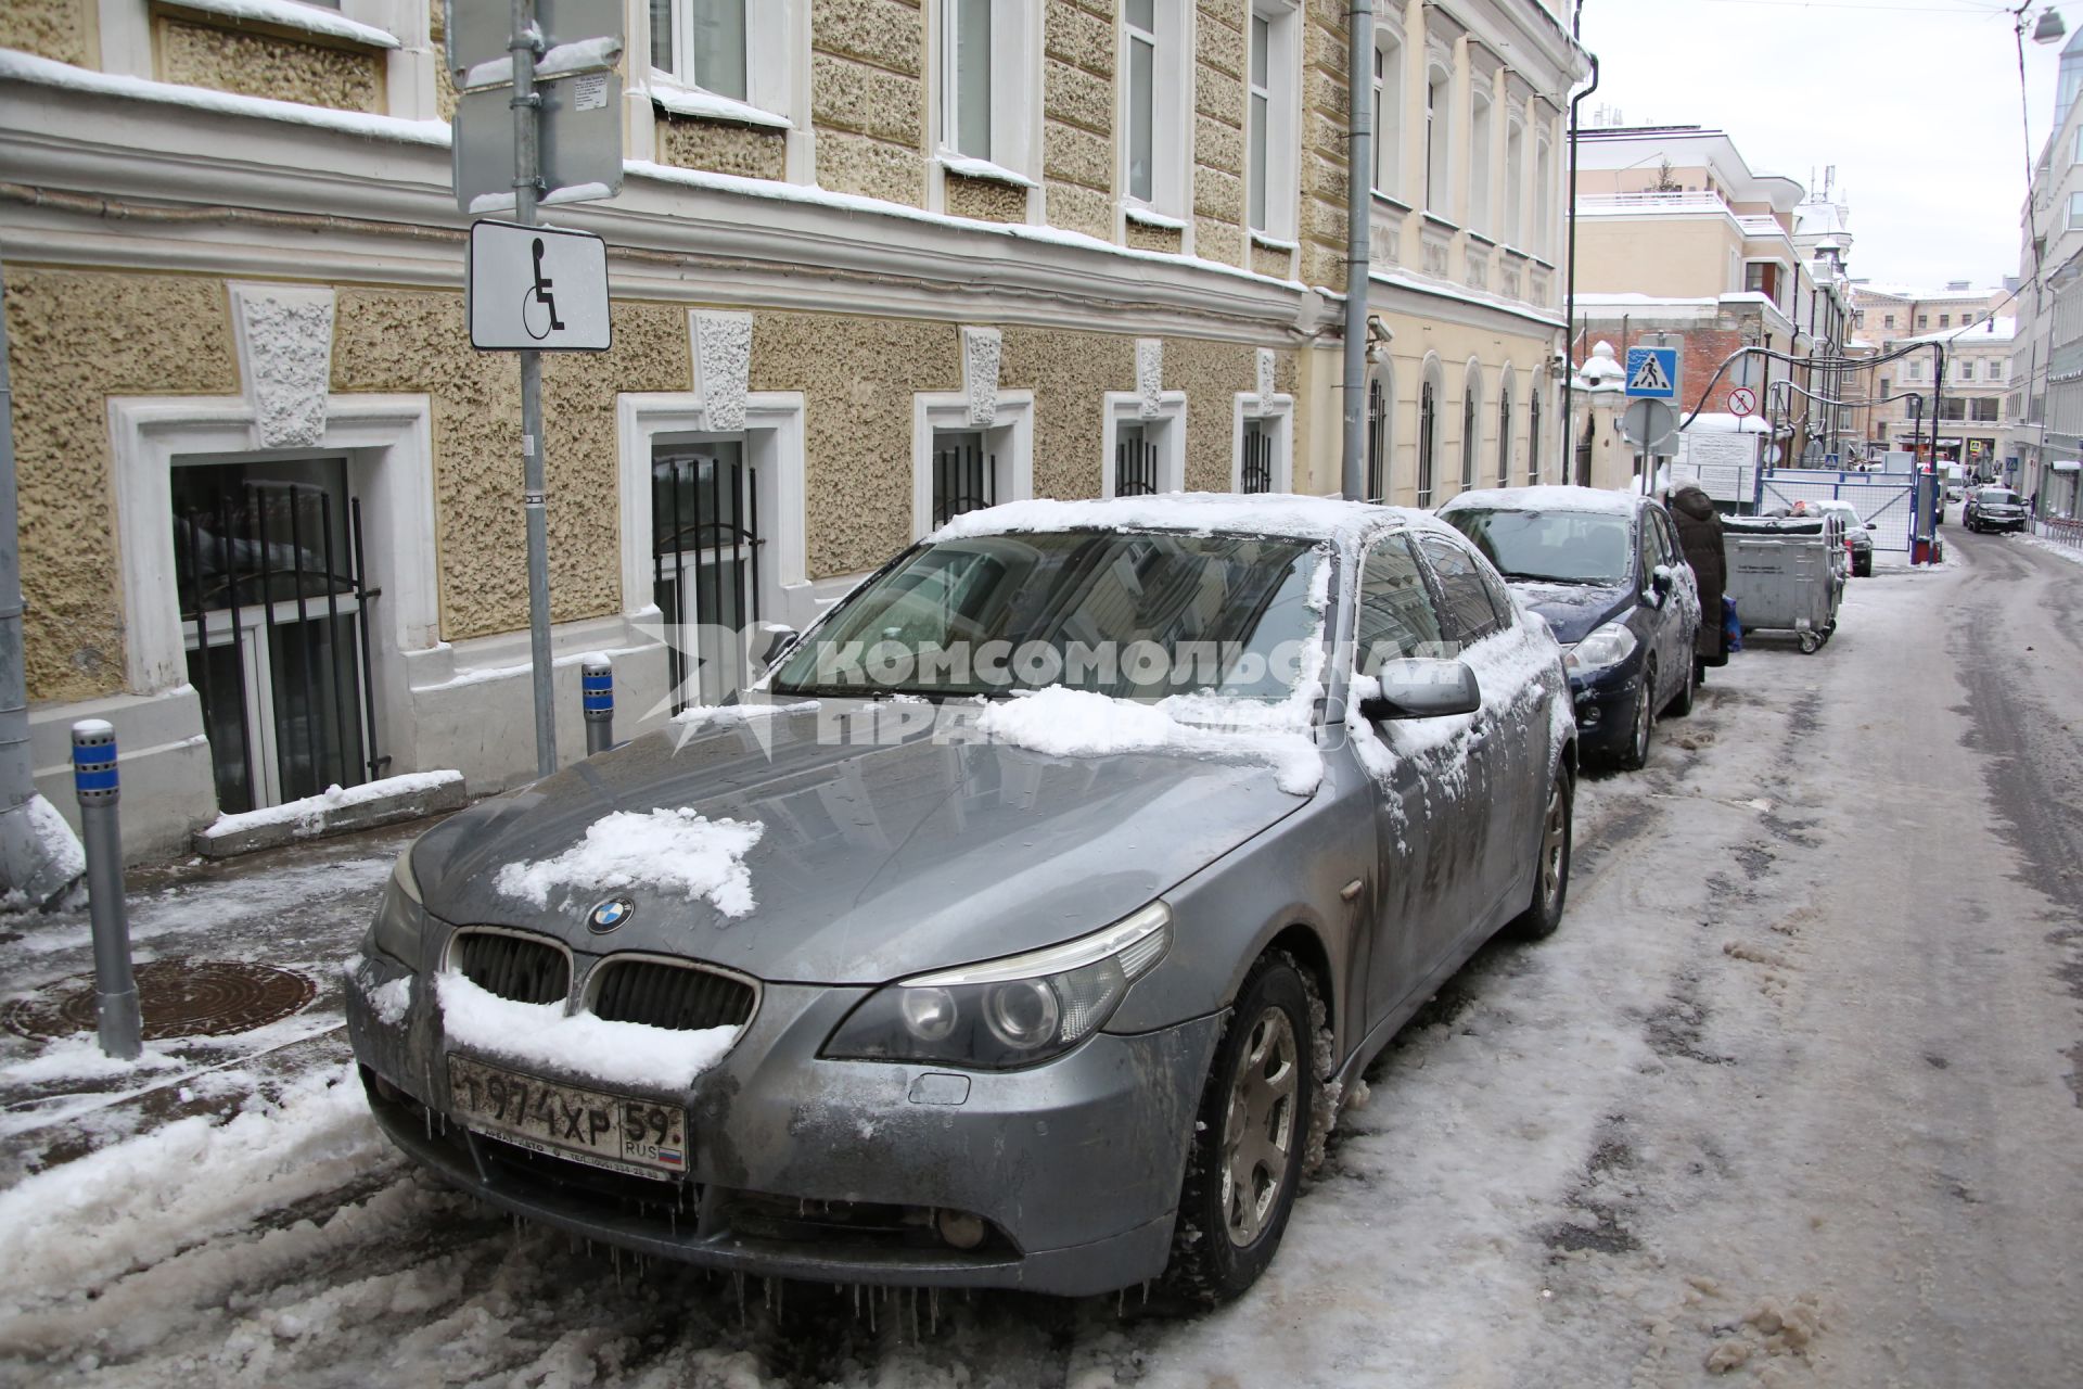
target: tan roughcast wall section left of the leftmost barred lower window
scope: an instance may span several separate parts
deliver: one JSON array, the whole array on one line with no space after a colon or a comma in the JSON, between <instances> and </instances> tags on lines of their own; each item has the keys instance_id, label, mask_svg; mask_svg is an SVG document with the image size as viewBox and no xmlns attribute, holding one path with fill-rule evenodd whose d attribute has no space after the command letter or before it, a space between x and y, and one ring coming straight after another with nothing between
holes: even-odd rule
<instances>
[{"instance_id":1,"label":"tan roughcast wall section left of the leftmost barred lower window","mask_svg":"<svg viewBox=\"0 0 2083 1389\"><path fill-rule=\"evenodd\" d=\"M6 269L31 700L123 689L110 396L240 389L223 281ZM167 583L173 575L165 575Z\"/></svg>"}]
</instances>

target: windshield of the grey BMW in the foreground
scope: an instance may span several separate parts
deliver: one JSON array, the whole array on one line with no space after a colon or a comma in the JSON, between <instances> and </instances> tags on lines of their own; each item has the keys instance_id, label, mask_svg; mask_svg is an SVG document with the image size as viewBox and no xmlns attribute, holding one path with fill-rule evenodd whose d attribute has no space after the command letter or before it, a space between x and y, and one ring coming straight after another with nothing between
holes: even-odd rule
<instances>
[{"instance_id":1,"label":"windshield of the grey BMW in the foreground","mask_svg":"<svg viewBox=\"0 0 2083 1389\"><path fill-rule=\"evenodd\" d=\"M852 594L777 693L992 696L1042 685L1283 700L1321 646L1314 541L1044 531L921 546Z\"/></svg>"}]
</instances>

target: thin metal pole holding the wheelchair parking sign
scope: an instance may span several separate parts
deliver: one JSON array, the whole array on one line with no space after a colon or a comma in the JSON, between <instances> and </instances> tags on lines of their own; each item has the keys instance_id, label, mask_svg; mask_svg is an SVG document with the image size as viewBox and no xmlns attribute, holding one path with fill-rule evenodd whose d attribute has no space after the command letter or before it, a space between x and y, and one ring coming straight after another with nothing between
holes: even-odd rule
<instances>
[{"instance_id":1,"label":"thin metal pole holding the wheelchair parking sign","mask_svg":"<svg viewBox=\"0 0 2083 1389\"><path fill-rule=\"evenodd\" d=\"M535 94L535 2L512 0L515 221L535 225L542 192L542 98ZM521 506L527 510L527 646L535 666L535 775L556 771L556 704L550 689L550 496L542 462L542 354L521 352Z\"/></svg>"}]
</instances>

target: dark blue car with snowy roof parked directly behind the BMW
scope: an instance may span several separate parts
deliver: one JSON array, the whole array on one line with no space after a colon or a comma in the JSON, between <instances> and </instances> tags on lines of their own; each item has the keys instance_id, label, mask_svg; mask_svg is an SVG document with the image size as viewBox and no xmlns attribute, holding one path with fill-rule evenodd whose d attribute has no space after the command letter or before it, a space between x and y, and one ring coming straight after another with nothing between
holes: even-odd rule
<instances>
[{"instance_id":1,"label":"dark blue car with snowy roof parked directly behind the BMW","mask_svg":"<svg viewBox=\"0 0 2083 1389\"><path fill-rule=\"evenodd\" d=\"M1637 768L1656 716L1689 714L1700 589L1662 504L1596 487L1462 491L1439 508L1564 650L1587 758Z\"/></svg>"}]
</instances>

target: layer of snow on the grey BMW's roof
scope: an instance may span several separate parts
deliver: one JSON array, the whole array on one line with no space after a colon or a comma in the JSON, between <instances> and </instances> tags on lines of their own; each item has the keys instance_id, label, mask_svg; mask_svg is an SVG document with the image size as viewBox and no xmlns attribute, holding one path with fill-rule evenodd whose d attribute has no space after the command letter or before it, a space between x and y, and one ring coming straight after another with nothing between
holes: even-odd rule
<instances>
[{"instance_id":1,"label":"layer of snow on the grey BMW's roof","mask_svg":"<svg viewBox=\"0 0 2083 1389\"><path fill-rule=\"evenodd\" d=\"M1237 496L1227 491L1166 491L1152 498L1112 498L1106 502L1006 502L962 512L939 527L929 541L969 539L973 535L1014 535L1021 531L1189 531L1212 535L1231 531L1244 535L1289 535L1294 539L1331 539L1381 521L1429 523L1425 512L1373 502L1346 502L1291 491Z\"/></svg>"}]
</instances>

